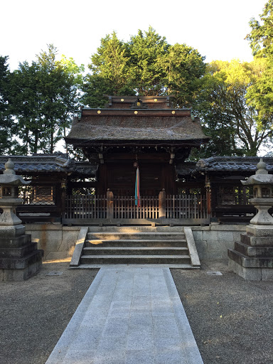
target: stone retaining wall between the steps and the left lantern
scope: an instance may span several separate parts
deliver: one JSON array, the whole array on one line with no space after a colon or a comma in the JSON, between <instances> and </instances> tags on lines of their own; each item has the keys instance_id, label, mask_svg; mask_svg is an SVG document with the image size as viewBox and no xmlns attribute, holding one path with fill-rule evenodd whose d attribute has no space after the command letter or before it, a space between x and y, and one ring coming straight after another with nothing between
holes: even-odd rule
<instances>
[{"instance_id":1,"label":"stone retaining wall between the steps and the left lantern","mask_svg":"<svg viewBox=\"0 0 273 364\"><path fill-rule=\"evenodd\" d=\"M43 249L43 260L65 259L72 257L80 232L80 226L61 224L26 224L26 234Z\"/></svg>"}]
</instances>

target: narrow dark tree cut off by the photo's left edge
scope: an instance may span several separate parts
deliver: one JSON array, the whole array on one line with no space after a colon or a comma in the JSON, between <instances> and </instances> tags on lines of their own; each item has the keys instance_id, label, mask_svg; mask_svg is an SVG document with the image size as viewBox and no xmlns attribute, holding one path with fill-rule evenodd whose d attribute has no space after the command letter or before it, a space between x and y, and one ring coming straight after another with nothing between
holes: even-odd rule
<instances>
[{"instance_id":1,"label":"narrow dark tree cut off by the photo's left edge","mask_svg":"<svg viewBox=\"0 0 273 364\"><path fill-rule=\"evenodd\" d=\"M8 57L0 56L0 154L11 150L11 126L13 120L9 110L10 72Z\"/></svg>"}]
</instances>

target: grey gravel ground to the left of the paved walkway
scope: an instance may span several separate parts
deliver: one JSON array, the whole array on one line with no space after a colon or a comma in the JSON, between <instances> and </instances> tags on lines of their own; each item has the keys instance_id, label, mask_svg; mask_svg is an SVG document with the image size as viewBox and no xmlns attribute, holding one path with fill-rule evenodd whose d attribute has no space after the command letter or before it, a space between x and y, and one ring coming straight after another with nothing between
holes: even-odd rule
<instances>
[{"instance_id":1,"label":"grey gravel ground to the left of the paved walkway","mask_svg":"<svg viewBox=\"0 0 273 364\"><path fill-rule=\"evenodd\" d=\"M25 282L0 282L0 363L44 364L97 272L44 263Z\"/></svg>"}]
</instances>

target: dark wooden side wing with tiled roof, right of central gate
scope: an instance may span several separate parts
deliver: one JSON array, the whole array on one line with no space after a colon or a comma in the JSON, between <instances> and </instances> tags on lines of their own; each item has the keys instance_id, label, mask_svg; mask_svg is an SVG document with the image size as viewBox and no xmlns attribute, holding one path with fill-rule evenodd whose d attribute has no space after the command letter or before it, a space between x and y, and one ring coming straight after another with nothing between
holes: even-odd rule
<instances>
[{"instance_id":1,"label":"dark wooden side wing with tiled roof, right of central gate","mask_svg":"<svg viewBox=\"0 0 273 364\"><path fill-rule=\"evenodd\" d=\"M273 158L264 157L267 171L273 173ZM220 223L249 223L256 209L249 200L252 188L243 186L244 181L255 173L259 157L215 156L200 159L192 176L205 179L207 200L210 201L210 216ZM273 209L269 210L273 213Z\"/></svg>"}]
</instances>

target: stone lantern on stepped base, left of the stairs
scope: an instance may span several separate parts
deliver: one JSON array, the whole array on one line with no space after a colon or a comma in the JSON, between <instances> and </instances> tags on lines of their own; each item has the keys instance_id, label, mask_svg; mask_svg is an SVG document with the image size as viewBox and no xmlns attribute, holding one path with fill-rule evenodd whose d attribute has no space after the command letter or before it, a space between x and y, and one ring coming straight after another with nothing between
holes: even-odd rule
<instances>
[{"instance_id":1,"label":"stone lantern on stepped base, left of the stairs","mask_svg":"<svg viewBox=\"0 0 273 364\"><path fill-rule=\"evenodd\" d=\"M0 175L0 281L22 281L36 274L42 265L43 250L31 242L31 235L16 216L16 206L23 203L18 198L18 186L28 185L16 176L14 163L9 159Z\"/></svg>"}]
</instances>

